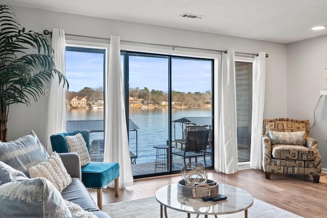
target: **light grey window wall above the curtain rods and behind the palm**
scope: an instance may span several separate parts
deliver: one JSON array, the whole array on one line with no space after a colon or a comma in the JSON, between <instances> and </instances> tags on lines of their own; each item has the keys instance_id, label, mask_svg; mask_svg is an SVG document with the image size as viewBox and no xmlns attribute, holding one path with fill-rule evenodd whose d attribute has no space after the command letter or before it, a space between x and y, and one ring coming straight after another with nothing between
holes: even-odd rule
<instances>
[{"instance_id":1,"label":"light grey window wall above the curtain rods and behind the palm","mask_svg":"<svg viewBox=\"0 0 327 218\"><path fill-rule=\"evenodd\" d=\"M110 38L118 35L121 40L199 47L203 49L226 50L236 52L269 54L266 60L266 94L264 118L286 117L287 115L287 49L285 44L239 37L224 36L182 29L144 25L125 22L14 7L23 27L43 33L44 29L64 29L66 34L86 35ZM66 37L74 39L74 37ZM81 40L81 38L75 38ZM83 39L85 40L85 39ZM89 40L89 39L88 39ZM25 105L13 105L8 123L8 140L13 140L33 129L42 143L45 139L46 110L49 99L27 108Z\"/></svg>"}]
</instances>

